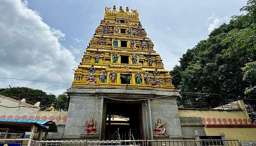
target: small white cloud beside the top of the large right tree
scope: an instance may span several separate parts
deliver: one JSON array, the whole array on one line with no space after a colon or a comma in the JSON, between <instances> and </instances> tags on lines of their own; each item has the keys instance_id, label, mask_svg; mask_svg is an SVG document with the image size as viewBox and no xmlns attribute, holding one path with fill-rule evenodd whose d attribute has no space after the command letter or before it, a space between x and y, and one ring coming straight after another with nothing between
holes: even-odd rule
<instances>
[{"instance_id":1,"label":"small white cloud beside the top of the large right tree","mask_svg":"<svg viewBox=\"0 0 256 146\"><path fill-rule=\"evenodd\" d=\"M219 16L215 16L214 14L212 14L212 16L207 18L207 23L206 23L208 26L209 34L212 30L219 27L222 23L227 22L228 20L229 20L229 18L227 18L227 17L220 18Z\"/></svg>"}]
</instances>

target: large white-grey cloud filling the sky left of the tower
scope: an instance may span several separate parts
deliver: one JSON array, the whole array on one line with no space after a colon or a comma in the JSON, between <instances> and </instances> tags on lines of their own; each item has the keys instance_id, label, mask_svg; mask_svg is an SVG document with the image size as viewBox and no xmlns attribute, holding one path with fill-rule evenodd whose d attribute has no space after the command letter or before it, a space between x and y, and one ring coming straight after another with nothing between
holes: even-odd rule
<instances>
[{"instance_id":1,"label":"large white-grey cloud filling the sky left of the tower","mask_svg":"<svg viewBox=\"0 0 256 146\"><path fill-rule=\"evenodd\" d=\"M2 0L0 6L0 77L37 79L70 83L76 68L74 55L59 41L65 34L50 28L39 14L27 7L27 1ZM70 85L3 80L8 85L43 89L54 92Z\"/></svg>"}]
</instances>

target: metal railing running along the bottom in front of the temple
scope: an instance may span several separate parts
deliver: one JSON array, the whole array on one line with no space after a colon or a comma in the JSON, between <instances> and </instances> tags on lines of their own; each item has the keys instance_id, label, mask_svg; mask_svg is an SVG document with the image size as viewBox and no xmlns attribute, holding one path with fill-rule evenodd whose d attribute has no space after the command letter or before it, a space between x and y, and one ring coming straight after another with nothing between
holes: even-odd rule
<instances>
[{"instance_id":1,"label":"metal railing running along the bottom in front of the temple","mask_svg":"<svg viewBox=\"0 0 256 146\"><path fill-rule=\"evenodd\" d=\"M239 139L37 141L31 146L243 146Z\"/></svg>"}]
</instances>

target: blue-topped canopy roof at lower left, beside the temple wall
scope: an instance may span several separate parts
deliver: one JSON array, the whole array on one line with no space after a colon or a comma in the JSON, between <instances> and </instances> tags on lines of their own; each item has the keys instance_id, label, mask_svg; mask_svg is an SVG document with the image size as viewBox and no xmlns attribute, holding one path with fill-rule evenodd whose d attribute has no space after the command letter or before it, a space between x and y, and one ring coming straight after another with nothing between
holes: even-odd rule
<instances>
[{"instance_id":1,"label":"blue-topped canopy roof at lower left, beside the temple wall","mask_svg":"<svg viewBox=\"0 0 256 146\"><path fill-rule=\"evenodd\" d=\"M30 131L32 125L36 125L48 132L58 132L56 123L53 121L0 119L0 128L12 128L21 131Z\"/></svg>"}]
</instances>

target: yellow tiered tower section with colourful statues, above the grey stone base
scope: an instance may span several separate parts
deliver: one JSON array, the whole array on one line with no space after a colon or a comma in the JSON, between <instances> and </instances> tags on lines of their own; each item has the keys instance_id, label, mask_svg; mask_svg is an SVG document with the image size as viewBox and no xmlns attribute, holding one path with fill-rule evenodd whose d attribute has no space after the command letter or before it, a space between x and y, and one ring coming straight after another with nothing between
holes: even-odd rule
<instances>
[{"instance_id":1,"label":"yellow tiered tower section with colourful statues, above the grey stone base","mask_svg":"<svg viewBox=\"0 0 256 146\"><path fill-rule=\"evenodd\" d=\"M75 70L72 86L174 89L160 55L139 21L139 12L105 8L104 19Z\"/></svg>"}]
</instances>

